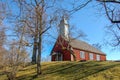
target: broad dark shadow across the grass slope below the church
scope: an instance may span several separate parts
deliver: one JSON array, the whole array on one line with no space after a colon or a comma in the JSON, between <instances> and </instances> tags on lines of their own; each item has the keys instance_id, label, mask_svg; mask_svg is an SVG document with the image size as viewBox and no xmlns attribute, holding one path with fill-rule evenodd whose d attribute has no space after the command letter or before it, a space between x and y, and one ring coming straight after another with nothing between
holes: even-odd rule
<instances>
[{"instance_id":1,"label":"broad dark shadow across the grass slope below the church","mask_svg":"<svg viewBox=\"0 0 120 80\"><path fill-rule=\"evenodd\" d=\"M120 64L105 65L100 63L101 62L84 62L80 64L66 64L64 65L64 67L59 66L58 67L59 69L57 68L54 70L54 68L52 68L53 70L51 70L50 72L46 72L44 75L47 74L51 74L53 76L59 75L61 77L66 77L66 79L72 78L74 80L79 80L120 65Z\"/></svg>"}]
</instances>

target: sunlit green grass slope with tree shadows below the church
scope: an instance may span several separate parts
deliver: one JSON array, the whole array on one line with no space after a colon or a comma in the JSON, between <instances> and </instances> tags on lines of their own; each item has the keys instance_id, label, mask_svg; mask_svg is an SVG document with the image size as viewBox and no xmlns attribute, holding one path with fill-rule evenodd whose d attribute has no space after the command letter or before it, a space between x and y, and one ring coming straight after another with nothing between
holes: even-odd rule
<instances>
[{"instance_id":1,"label":"sunlit green grass slope with tree shadows below the church","mask_svg":"<svg viewBox=\"0 0 120 80\"><path fill-rule=\"evenodd\" d=\"M17 80L120 80L120 62L46 62L39 77L35 67L21 69ZM5 79L0 71L0 80Z\"/></svg>"}]
</instances>

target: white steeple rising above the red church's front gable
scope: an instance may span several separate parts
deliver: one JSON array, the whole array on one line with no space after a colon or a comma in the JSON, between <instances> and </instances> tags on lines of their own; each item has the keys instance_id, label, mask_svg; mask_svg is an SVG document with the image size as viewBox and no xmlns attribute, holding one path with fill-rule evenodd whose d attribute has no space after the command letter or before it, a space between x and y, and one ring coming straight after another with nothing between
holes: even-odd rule
<instances>
[{"instance_id":1,"label":"white steeple rising above the red church's front gable","mask_svg":"<svg viewBox=\"0 0 120 80\"><path fill-rule=\"evenodd\" d=\"M63 38L68 39L68 37L69 37L69 25L68 25L67 20L66 20L64 17L63 17L62 20L60 21L59 29L60 29L59 34L60 34Z\"/></svg>"}]
</instances>

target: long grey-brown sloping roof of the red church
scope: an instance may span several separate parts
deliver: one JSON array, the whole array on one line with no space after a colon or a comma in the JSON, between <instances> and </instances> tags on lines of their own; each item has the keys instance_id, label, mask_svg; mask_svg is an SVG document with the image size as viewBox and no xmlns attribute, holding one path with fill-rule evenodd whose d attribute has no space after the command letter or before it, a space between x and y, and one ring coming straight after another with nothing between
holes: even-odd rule
<instances>
[{"instance_id":1,"label":"long grey-brown sloping roof of the red church","mask_svg":"<svg viewBox=\"0 0 120 80\"><path fill-rule=\"evenodd\" d=\"M91 46L90 44L84 42L84 41L81 41L81 40L72 40L70 42L70 45L73 47L73 48L76 48L76 49L80 49L80 50L86 50L86 51L90 51L90 52L93 52L93 53L99 53L99 54L103 54L103 55L106 55L105 53L103 53L102 51L96 49L95 47Z\"/></svg>"}]
</instances>

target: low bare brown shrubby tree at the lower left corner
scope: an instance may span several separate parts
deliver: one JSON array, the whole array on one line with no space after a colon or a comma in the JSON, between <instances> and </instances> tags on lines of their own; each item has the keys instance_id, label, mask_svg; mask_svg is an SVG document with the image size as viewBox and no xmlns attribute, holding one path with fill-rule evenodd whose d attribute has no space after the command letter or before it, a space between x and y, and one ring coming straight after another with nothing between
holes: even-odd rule
<instances>
[{"instance_id":1,"label":"low bare brown shrubby tree at the lower left corner","mask_svg":"<svg viewBox=\"0 0 120 80\"><path fill-rule=\"evenodd\" d=\"M25 49L20 50L16 42L10 45L10 50L3 55L4 73L7 75L8 80L16 80L16 74L20 66L24 66L25 59L27 58Z\"/></svg>"}]
</instances>

